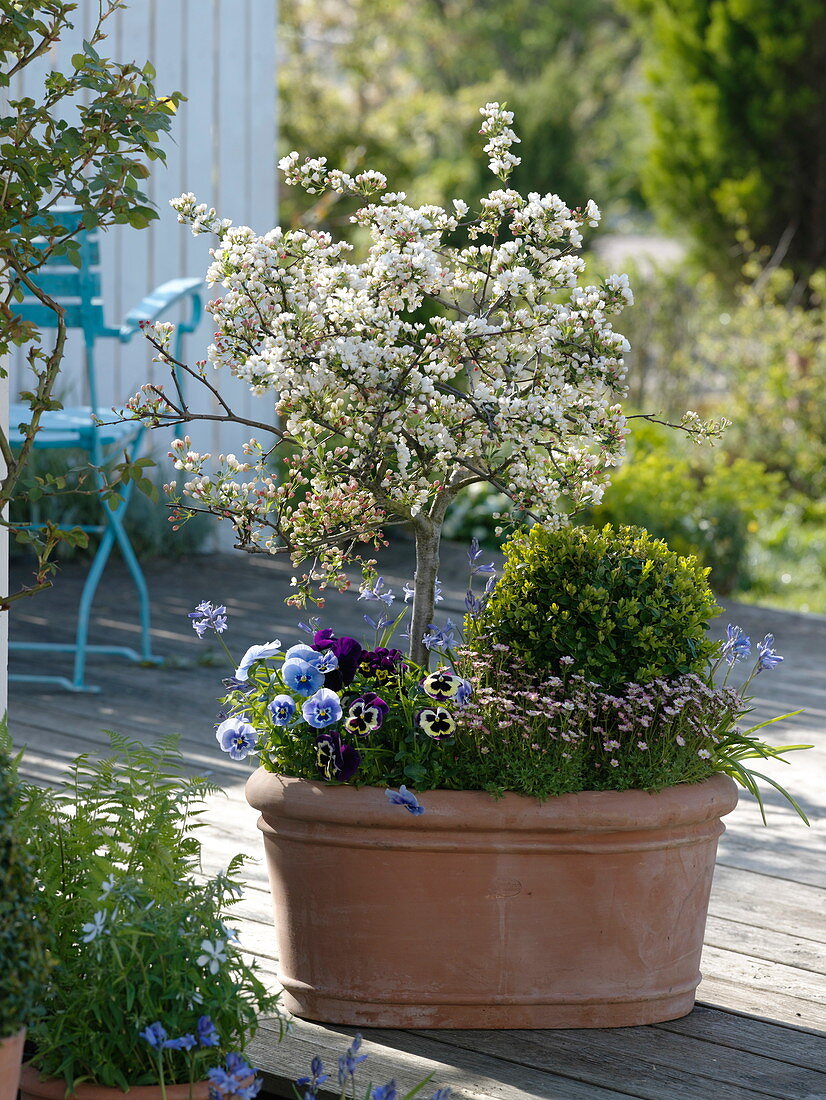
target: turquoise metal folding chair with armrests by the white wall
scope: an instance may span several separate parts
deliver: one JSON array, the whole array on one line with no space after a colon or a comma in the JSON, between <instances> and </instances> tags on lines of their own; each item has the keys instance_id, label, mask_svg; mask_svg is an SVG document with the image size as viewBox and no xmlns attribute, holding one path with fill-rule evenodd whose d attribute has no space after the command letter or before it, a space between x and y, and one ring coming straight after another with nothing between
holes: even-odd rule
<instances>
[{"instance_id":1,"label":"turquoise metal folding chair with armrests by the white wall","mask_svg":"<svg viewBox=\"0 0 826 1100\"><path fill-rule=\"evenodd\" d=\"M79 224L77 212L71 210L60 210L55 217L67 230ZM200 292L203 284L199 278L170 279L146 295L134 309L130 310L119 328L110 328L106 323L100 298L100 261L97 233L81 230L76 240L80 248L79 270L68 264L65 256L51 257L37 272L35 282L46 294L64 306L66 327L82 331L89 404L44 413L41 418L40 431L34 440L34 449L86 451L89 455L89 462L96 471L98 487L103 488L104 479L100 469L106 463L107 458L111 457L112 453L126 451L130 459L134 459L140 452L144 428L136 421L126 424L98 422L99 420L112 419L111 411L101 409L98 405L95 362L98 341L112 339L128 343L141 331L141 322L157 320L167 310L188 301L188 318L177 327L173 349L175 358L181 360L181 341L186 333L195 331L201 317ZM45 243L44 241L44 246ZM38 328L56 327L54 312L33 296L26 297L14 308L25 320L33 321ZM9 440L12 447L22 444L23 437L19 426L27 424L30 417L31 410L27 405L12 405L9 418ZM109 653L125 657L132 661L158 663L159 658L152 652L150 598L146 581L123 526L132 488L131 482L123 487L121 502L115 507L110 507L101 499L100 524L79 525L85 531L99 534L101 539L80 595L75 641L62 644L15 640L9 644L10 650L32 651L43 656L55 652L74 653L71 680L66 676L47 675L40 672L13 673L9 676L10 680L27 683L52 683L74 692L97 692L100 691L99 688L86 682L86 658L89 653ZM45 525L32 522L25 526L36 528ZM88 640L92 600L115 543L120 548L137 590L141 624L141 644L137 650L125 646L92 646Z\"/></svg>"}]
</instances>

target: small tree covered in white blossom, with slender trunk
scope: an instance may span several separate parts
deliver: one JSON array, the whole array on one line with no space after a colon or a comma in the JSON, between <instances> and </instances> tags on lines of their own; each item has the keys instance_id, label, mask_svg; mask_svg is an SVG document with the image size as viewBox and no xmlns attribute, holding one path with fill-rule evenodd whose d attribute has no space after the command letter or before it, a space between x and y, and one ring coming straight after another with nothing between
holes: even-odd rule
<instances>
[{"instance_id":1,"label":"small tree covered in white blossom, with slender trunk","mask_svg":"<svg viewBox=\"0 0 826 1100\"><path fill-rule=\"evenodd\" d=\"M293 602L315 583L346 584L343 566L360 543L377 543L388 522L416 536L410 658L427 664L439 541L451 502L487 482L539 518L553 520L598 501L620 461L626 421L625 339L613 315L632 300L627 276L580 285L583 226L593 202L571 210L555 195L507 187L519 158L513 116L482 109L489 167L502 186L474 213L414 208L387 193L376 172L330 169L324 158L279 163L286 183L310 195L356 196L352 220L368 234L364 258L327 232L276 228L263 237L233 227L184 195L173 201L194 233L216 233L208 280L225 288L209 306L216 323L209 360L273 393L277 417L238 416L207 376L207 364L175 364L170 326L147 336L159 358L199 378L219 405L198 413L183 391L144 386L129 416L152 426L227 420L271 433L244 457L173 444L190 474L176 515L202 510L231 519L249 551L287 551L312 562ZM271 457L286 450L286 475ZM372 563L367 562L367 566Z\"/></svg>"}]
</instances>

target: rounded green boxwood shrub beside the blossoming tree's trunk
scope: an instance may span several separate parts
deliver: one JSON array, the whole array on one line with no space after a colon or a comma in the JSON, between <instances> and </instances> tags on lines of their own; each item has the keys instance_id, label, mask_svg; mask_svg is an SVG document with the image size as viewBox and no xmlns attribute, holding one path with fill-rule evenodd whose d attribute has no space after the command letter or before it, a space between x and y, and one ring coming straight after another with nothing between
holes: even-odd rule
<instances>
[{"instance_id":1,"label":"rounded green boxwood shrub beside the blossoming tree's trunk","mask_svg":"<svg viewBox=\"0 0 826 1100\"><path fill-rule=\"evenodd\" d=\"M708 570L634 527L550 530L505 543L503 576L472 645L507 645L537 673L573 658L572 672L606 686L702 673L718 610Z\"/></svg>"}]
</instances>

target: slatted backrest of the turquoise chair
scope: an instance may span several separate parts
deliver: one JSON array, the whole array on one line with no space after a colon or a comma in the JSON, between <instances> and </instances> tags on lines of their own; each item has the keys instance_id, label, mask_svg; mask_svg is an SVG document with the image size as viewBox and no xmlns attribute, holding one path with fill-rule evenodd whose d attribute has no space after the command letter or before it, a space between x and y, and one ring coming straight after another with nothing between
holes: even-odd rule
<instances>
[{"instance_id":1,"label":"slatted backrest of the turquoise chair","mask_svg":"<svg viewBox=\"0 0 826 1100\"><path fill-rule=\"evenodd\" d=\"M43 266L32 276L32 282L63 306L64 322L68 329L80 329L86 346L86 375L89 387L89 403L97 409L97 387L95 383L93 346L100 337L119 337L118 329L107 327L103 301L100 297L100 249L96 230L80 227L80 213L76 209L64 208L52 211L54 220L67 232L74 234L80 253L80 267L70 264L67 256L49 255ZM45 250L45 238L35 240L35 245ZM57 316L24 288L24 298L14 304L15 312L40 329L57 327Z\"/></svg>"}]
</instances>

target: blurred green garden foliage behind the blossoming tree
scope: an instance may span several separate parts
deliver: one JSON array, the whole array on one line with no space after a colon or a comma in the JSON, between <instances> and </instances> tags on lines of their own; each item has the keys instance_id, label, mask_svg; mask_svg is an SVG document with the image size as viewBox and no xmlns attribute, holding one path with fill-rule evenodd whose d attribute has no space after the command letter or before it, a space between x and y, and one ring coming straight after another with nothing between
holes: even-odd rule
<instances>
[{"instance_id":1,"label":"blurred green garden foliage behind the blossoming tree","mask_svg":"<svg viewBox=\"0 0 826 1100\"><path fill-rule=\"evenodd\" d=\"M722 595L826 612L826 7L822 0L282 0L282 152L416 201L489 186L478 107L516 112L514 186L603 209L627 271L629 407L733 422L713 449L631 420L579 521L695 553ZM282 222L348 232L344 207ZM476 487L445 535L495 544Z\"/></svg>"}]
</instances>

